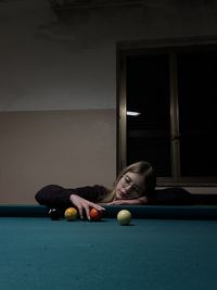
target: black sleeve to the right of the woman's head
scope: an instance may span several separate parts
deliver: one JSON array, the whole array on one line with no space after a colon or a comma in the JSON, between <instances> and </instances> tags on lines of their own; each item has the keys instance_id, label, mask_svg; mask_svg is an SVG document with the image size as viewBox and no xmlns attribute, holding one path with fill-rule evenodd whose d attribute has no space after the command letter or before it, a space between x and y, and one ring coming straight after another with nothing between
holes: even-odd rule
<instances>
[{"instance_id":1,"label":"black sleeve to the right of the woman's head","mask_svg":"<svg viewBox=\"0 0 217 290\"><path fill-rule=\"evenodd\" d=\"M191 205L193 204L192 194L183 188L157 189L148 197L148 204L162 205Z\"/></svg>"}]
</instances>

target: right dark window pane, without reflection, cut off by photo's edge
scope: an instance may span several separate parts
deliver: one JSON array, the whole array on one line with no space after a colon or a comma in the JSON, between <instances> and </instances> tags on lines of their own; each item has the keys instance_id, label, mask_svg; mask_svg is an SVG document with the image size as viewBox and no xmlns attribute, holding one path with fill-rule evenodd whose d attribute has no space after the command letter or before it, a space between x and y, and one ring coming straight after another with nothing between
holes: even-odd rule
<instances>
[{"instance_id":1,"label":"right dark window pane, without reflection, cut off by photo's edge","mask_svg":"<svg viewBox=\"0 0 217 290\"><path fill-rule=\"evenodd\" d=\"M217 176L217 53L178 54L182 176Z\"/></svg>"}]
</instances>

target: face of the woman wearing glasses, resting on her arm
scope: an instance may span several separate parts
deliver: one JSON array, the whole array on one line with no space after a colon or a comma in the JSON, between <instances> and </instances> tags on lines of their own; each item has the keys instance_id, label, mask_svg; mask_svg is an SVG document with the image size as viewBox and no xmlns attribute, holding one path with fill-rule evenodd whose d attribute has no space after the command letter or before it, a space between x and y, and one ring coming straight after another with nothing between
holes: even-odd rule
<instances>
[{"instance_id":1,"label":"face of the woman wearing glasses, resting on her arm","mask_svg":"<svg viewBox=\"0 0 217 290\"><path fill-rule=\"evenodd\" d=\"M116 200L131 200L142 196L144 191L144 179L141 174L126 173L117 182L115 193Z\"/></svg>"}]
</instances>

